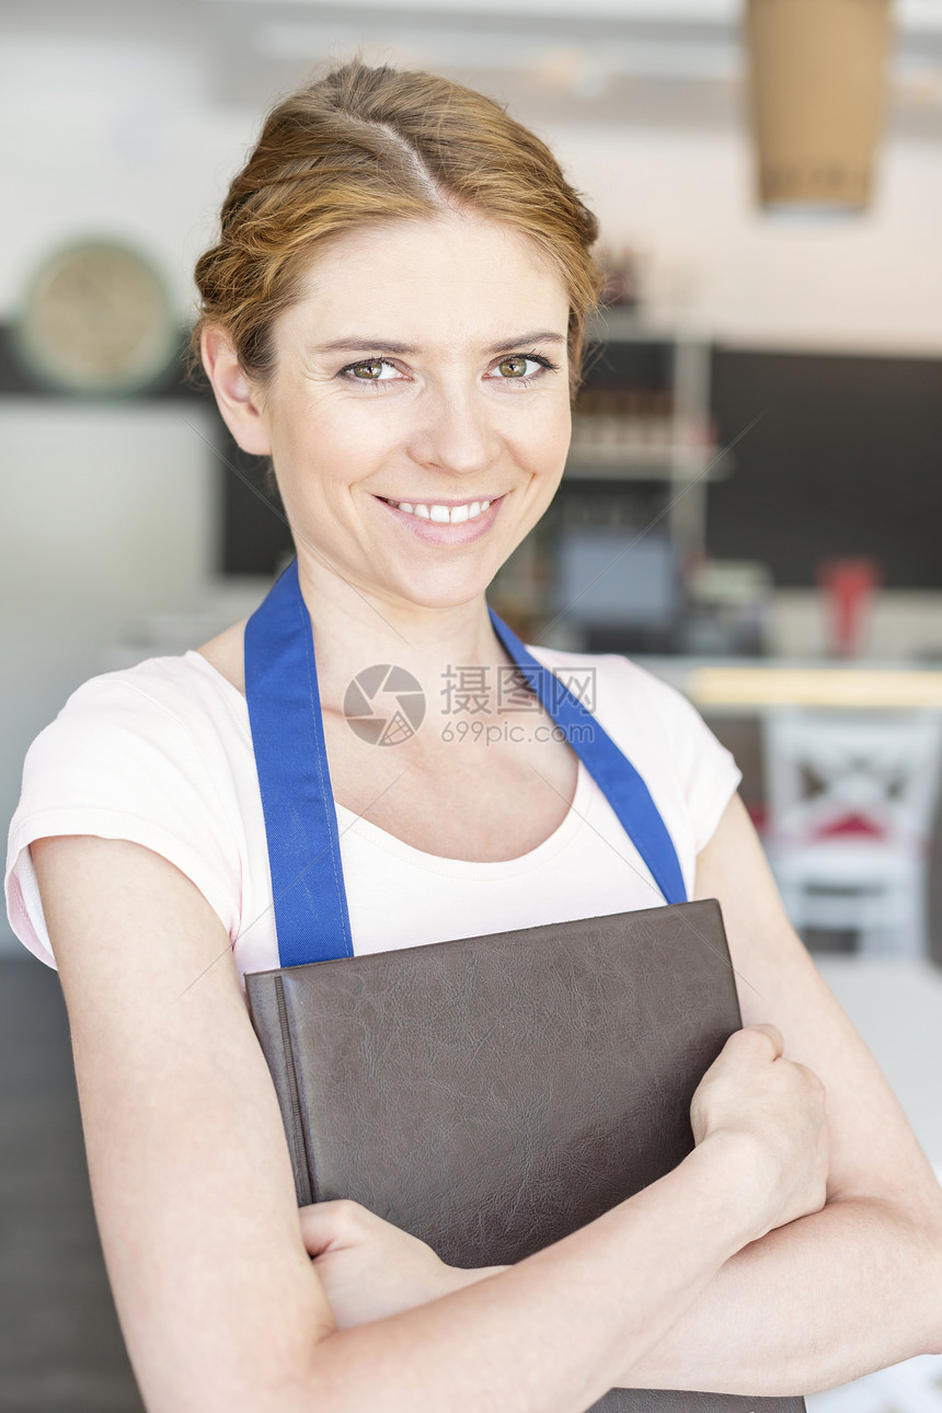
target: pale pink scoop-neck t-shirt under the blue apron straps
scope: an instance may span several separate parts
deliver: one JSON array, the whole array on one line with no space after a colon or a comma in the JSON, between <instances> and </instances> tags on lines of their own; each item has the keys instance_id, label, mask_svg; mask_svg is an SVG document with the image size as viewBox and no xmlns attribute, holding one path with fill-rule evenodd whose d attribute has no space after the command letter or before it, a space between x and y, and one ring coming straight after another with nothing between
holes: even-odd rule
<instances>
[{"instance_id":1,"label":"pale pink scoop-neck t-shirt under the blue apron straps","mask_svg":"<svg viewBox=\"0 0 942 1413\"><path fill-rule=\"evenodd\" d=\"M595 671L595 699L583 699L644 777L689 892L696 855L740 780L733 757L679 692L627 658L530 651L569 685ZM499 863L438 858L343 805L336 814L357 954L662 901L582 763L559 828ZM240 975L278 965L249 708L199 653L90 678L30 746L10 825L7 913L51 966L30 844L54 834L130 839L161 853L222 918Z\"/></svg>"}]
</instances>

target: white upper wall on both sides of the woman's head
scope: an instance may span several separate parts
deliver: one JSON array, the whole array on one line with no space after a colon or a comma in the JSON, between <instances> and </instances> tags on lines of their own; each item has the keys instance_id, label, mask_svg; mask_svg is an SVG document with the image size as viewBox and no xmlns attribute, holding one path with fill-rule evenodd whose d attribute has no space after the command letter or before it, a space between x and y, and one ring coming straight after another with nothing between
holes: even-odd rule
<instances>
[{"instance_id":1,"label":"white upper wall on both sides of the woman's head","mask_svg":"<svg viewBox=\"0 0 942 1413\"><path fill-rule=\"evenodd\" d=\"M185 311L193 256L260 113L216 106L182 40L11 38L0 54L0 189L17 212L0 243L0 319L40 254L82 230L145 244ZM720 341L753 346L942 350L936 141L888 143L866 219L785 225L753 211L749 148L733 126L585 123L544 136L606 236L651 253L661 314L685 307Z\"/></svg>"}]
</instances>

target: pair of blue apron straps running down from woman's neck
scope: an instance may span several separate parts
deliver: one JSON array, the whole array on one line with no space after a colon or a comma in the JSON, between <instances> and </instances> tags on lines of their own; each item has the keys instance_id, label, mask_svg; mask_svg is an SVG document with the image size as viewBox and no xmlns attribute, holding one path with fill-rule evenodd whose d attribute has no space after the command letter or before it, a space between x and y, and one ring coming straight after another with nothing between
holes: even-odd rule
<instances>
[{"instance_id":1,"label":"pair of blue apron straps running down from woman's neck","mask_svg":"<svg viewBox=\"0 0 942 1413\"><path fill-rule=\"evenodd\" d=\"M569 688L527 651L493 609L489 613L501 643L545 711L566 732L667 901L685 901L676 852L641 776ZM352 957L314 634L297 560L249 619L244 654L281 965Z\"/></svg>"}]
</instances>

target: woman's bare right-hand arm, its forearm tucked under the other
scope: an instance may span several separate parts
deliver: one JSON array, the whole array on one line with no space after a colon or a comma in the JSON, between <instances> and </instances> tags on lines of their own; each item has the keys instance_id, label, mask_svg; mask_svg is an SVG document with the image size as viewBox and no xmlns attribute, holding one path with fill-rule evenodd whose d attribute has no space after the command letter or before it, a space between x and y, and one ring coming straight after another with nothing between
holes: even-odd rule
<instances>
[{"instance_id":1,"label":"woman's bare right-hand arm, its forearm tucked under the other","mask_svg":"<svg viewBox=\"0 0 942 1413\"><path fill-rule=\"evenodd\" d=\"M775 1024L825 1084L828 1207L729 1260L621 1382L811 1393L942 1352L942 1188L788 923L739 797L699 856L696 896L722 903L743 1024Z\"/></svg>"}]
</instances>

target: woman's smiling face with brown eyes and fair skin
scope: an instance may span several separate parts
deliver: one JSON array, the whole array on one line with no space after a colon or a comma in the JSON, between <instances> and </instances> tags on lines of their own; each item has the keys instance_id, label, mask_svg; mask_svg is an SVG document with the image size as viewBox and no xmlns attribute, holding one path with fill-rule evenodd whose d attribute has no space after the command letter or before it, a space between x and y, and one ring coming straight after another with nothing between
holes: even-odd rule
<instances>
[{"instance_id":1,"label":"woman's smiling face with brown eyes and fair skin","mask_svg":"<svg viewBox=\"0 0 942 1413\"><path fill-rule=\"evenodd\" d=\"M319 582L326 564L427 606L486 589L562 476L568 318L549 261L477 216L366 227L318 257L257 406Z\"/></svg>"}]
</instances>

